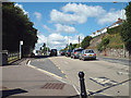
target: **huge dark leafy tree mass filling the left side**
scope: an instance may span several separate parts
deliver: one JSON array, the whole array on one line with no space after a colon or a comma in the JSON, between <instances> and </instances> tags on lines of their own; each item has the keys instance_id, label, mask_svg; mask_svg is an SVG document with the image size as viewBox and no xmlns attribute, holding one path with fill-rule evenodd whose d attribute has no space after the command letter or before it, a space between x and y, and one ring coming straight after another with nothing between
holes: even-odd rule
<instances>
[{"instance_id":1,"label":"huge dark leafy tree mass filling the left side","mask_svg":"<svg viewBox=\"0 0 131 98\"><path fill-rule=\"evenodd\" d=\"M32 53L37 42L37 29L33 27L27 14L13 2L2 3L2 49L17 52L20 40L23 40L23 56Z\"/></svg>"}]
</instances>

